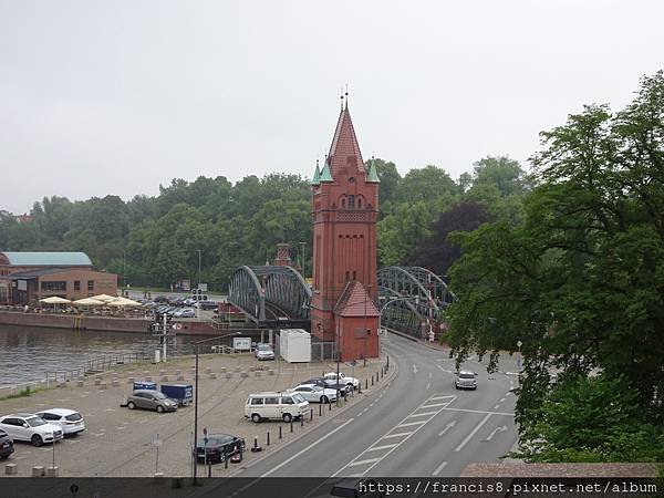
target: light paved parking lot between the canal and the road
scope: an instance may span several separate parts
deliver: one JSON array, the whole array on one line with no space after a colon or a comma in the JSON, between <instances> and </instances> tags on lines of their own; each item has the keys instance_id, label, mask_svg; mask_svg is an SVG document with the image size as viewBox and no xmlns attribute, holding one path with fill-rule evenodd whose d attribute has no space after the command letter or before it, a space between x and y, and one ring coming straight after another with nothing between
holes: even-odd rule
<instances>
[{"instance_id":1,"label":"light paved parking lot between the canal and the road","mask_svg":"<svg viewBox=\"0 0 664 498\"><path fill-rule=\"evenodd\" d=\"M34 413L44 408L72 408L85 418L86 430L80 436L66 438L55 445L55 466L60 476L89 477L139 477L163 473L166 476L189 476L191 474L191 442L194 433L194 406L179 408L174 413L157 414L120 406L124 396L131 393L131 378L145 381L148 377L159 383L164 375L167 383L195 384L195 360L191 356L170 360L160 364L118 365L112 372L90 376L83 386L69 383L66 386L34 393L30 396L0 401L0 414L18 412ZM380 388L384 378L378 372L385 361L361 362L352 369L342 364L341 371L365 383L369 390ZM259 370L260 369L260 370ZM270 372L271 370L271 372ZM283 361L258 362L252 355L201 355L199 359L199 402L198 437L203 429L208 433L227 433L243 437L247 452L242 464L212 466L212 476L228 476L238 467L263 455L266 450L277 450L293 440L313 425L339 414L344 405L356 403L364 394L349 396L340 406L311 404L313 419L307 417L301 426L295 421L292 426L283 422L255 424L245 418L247 396L260 391L282 391L312 376L336 370L335 363L289 364ZM185 376L177 381L177 373ZM242 376L246 375L246 376ZM212 378L216 376L216 378ZM230 376L230 378L227 378ZM372 385L372 376L376 384ZM98 378L98 381L97 381ZM118 384L114 386L115 384ZM101 385L96 385L101 382ZM331 409L330 409L331 408ZM282 439L279 438L281 427ZM270 446L267 437L270 433ZM155 446L157 438L159 445ZM251 453L255 437L261 453ZM158 463L157 463L158 448ZM52 445L33 447L29 443L15 442L14 454L2 464L17 464L17 476L31 476L33 466L50 467L53 459ZM203 465L199 475L207 475ZM4 476L4 473L2 474Z\"/></svg>"}]
</instances>

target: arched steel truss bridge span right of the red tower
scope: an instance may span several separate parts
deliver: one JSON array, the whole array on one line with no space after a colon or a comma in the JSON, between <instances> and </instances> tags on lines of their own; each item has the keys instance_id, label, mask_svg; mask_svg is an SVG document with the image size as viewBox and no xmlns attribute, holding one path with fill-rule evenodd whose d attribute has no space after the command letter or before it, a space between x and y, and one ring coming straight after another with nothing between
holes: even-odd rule
<instances>
[{"instance_id":1,"label":"arched steel truss bridge span right of the red tower","mask_svg":"<svg viewBox=\"0 0 664 498\"><path fill-rule=\"evenodd\" d=\"M442 323L454 299L443 279L425 268L381 268L377 278L381 326L408 335L423 338L427 324Z\"/></svg>"}]
</instances>

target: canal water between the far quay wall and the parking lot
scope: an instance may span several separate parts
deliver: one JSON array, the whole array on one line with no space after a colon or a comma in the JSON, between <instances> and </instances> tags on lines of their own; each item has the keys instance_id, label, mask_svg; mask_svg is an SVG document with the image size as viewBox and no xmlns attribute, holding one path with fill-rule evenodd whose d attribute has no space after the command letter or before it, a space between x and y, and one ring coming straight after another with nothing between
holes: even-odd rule
<instances>
[{"instance_id":1,"label":"canal water between the far quay wall and the parking lot","mask_svg":"<svg viewBox=\"0 0 664 498\"><path fill-rule=\"evenodd\" d=\"M168 354L190 354L200 338L178 336ZM41 381L46 373L83 369L105 355L154 357L159 340L147 334L0 325L0 386Z\"/></svg>"}]
</instances>

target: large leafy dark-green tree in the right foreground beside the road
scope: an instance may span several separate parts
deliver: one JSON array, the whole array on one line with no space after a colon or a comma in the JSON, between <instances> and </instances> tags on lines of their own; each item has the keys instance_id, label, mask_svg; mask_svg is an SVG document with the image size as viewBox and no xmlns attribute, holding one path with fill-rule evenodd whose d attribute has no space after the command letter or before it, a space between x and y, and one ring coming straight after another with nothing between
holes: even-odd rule
<instances>
[{"instance_id":1,"label":"large leafy dark-green tree in the right foreground beside the road","mask_svg":"<svg viewBox=\"0 0 664 498\"><path fill-rule=\"evenodd\" d=\"M540 405L556 401L551 366L577 391L572 380L599 369L634 390L634 417L664 423L663 129L660 72L625 110L587 106L542 133L532 158L538 186L518 224L457 235L464 256L452 271L459 299L449 341L459 359L476 350L494 360L521 341L517 419L526 442L551 437L533 430L546 419ZM582 449L578 440L560 445Z\"/></svg>"}]
</instances>

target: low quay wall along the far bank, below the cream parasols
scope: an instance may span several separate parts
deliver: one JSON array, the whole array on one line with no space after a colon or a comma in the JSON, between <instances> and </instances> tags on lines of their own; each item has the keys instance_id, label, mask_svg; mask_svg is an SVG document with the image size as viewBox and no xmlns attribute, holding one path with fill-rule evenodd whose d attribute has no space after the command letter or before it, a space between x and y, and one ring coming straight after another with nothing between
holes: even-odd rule
<instances>
[{"instance_id":1,"label":"low quay wall along the far bank, below the cream parasols","mask_svg":"<svg viewBox=\"0 0 664 498\"><path fill-rule=\"evenodd\" d=\"M96 330L103 332L133 332L145 334L147 328L153 323L151 319L118 318L118 317L89 317L82 315L76 324L79 315L55 313L22 313L19 311L0 311L0 325L17 326L44 326L52 329ZM218 335L219 330L209 323L197 321L179 321L181 329L178 335Z\"/></svg>"}]
</instances>

